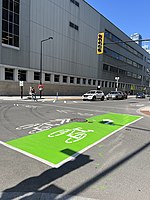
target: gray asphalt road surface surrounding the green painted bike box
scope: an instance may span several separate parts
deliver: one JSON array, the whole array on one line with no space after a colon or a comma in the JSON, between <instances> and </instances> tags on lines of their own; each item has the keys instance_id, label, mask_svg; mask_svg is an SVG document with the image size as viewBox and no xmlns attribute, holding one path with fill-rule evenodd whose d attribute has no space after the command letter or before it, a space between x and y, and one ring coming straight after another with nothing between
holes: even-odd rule
<instances>
[{"instance_id":1,"label":"gray asphalt road surface surrounding the green painted bike box","mask_svg":"<svg viewBox=\"0 0 150 200\"><path fill-rule=\"evenodd\" d=\"M141 115L148 99L110 101L0 100L0 141L108 112ZM0 144L4 199L150 199L150 116L116 132L75 160L51 168Z\"/></svg>"}]
</instances>

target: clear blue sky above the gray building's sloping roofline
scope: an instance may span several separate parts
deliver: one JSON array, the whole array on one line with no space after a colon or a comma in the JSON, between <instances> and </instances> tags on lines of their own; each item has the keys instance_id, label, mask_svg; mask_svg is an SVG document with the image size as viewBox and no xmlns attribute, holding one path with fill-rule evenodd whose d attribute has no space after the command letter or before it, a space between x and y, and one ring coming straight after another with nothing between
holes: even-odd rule
<instances>
[{"instance_id":1,"label":"clear blue sky above the gray building's sloping roofline","mask_svg":"<svg viewBox=\"0 0 150 200\"><path fill-rule=\"evenodd\" d=\"M150 38L150 0L86 0L126 35Z\"/></svg>"}]
</instances>

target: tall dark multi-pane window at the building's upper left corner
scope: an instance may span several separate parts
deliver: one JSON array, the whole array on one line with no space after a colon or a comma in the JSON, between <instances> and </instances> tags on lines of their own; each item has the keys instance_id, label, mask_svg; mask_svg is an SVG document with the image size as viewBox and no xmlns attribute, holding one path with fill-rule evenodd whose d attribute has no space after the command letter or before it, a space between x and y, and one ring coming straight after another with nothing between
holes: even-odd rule
<instances>
[{"instance_id":1,"label":"tall dark multi-pane window at the building's upper left corner","mask_svg":"<svg viewBox=\"0 0 150 200\"><path fill-rule=\"evenodd\" d=\"M2 43L19 47L20 0L2 2Z\"/></svg>"}]
</instances>

